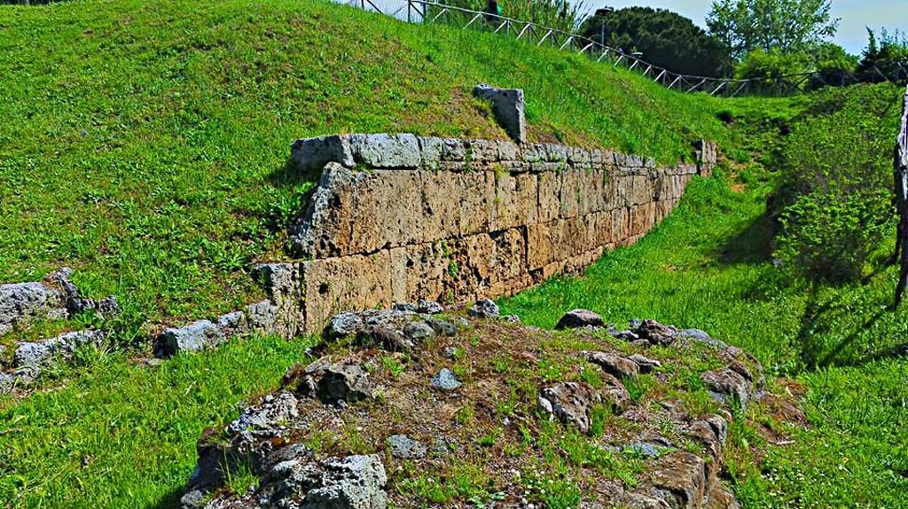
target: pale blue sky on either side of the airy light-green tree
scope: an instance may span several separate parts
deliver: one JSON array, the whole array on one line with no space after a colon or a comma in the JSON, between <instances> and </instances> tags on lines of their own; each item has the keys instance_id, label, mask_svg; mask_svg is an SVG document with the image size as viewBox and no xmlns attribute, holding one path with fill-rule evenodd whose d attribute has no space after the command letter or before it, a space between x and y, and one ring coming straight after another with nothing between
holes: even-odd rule
<instances>
[{"instance_id":1,"label":"pale blue sky on either side of the airy light-green tree","mask_svg":"<svg viewBox=\"0 0 908 509\"><path fill-rule=\"evenodd\" d=\"M620 8L630 5L646 5L675 11L694 20L694 23L706 27L706 14L711 0L585 0L584 6L590 12L598 7L609 5ZM838 34L834 41L841 44L848 53L860 54L867 45L867 33L864 26L870 26L879 32L885 26L892 30L898 28L908 31L908 0L833 0L833 17L841 18Z\"/></svg>"}]
</instances>

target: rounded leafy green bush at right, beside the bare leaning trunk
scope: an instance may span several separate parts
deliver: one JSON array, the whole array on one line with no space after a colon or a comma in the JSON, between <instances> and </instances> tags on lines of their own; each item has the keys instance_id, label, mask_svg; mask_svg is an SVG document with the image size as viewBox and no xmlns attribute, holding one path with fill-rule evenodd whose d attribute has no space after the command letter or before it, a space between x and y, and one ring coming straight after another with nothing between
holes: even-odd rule
<instances>
[{"instance_id":1,"label":"rounded leafy green bush at right, beside the bare leaning trunk","mask_svg":"<svg viewBox=\"0 0 908 509\"><path fill-rule=\"evenodd\" d=\"M892 143L901 108L891 85L848 94L808 119L785 148L786 206L776 256L814 279L860 278L893 231Z\"/></svg>"}]
</instances>

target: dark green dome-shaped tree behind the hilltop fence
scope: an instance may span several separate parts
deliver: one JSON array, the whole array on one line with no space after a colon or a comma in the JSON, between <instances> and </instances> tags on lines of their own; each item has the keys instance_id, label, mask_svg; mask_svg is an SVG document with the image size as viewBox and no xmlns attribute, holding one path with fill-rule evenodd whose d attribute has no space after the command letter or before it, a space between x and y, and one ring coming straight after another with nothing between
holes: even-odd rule
<instances>
[{"instance_id":1,"label":"dark green dome-shaped tree behind the hilltop fence","mask_svg":"<svg viewBox=\"0 0 908 509\"><path fill-rule=\"evenodd\" d=\"M619 9L588 17L580 30L594 41L607 34L606 44L625 53L639 52L649 64L675 73L724 76L731 70L720 41L693 21L665 9Z\"/></svg>"}]
</instances>

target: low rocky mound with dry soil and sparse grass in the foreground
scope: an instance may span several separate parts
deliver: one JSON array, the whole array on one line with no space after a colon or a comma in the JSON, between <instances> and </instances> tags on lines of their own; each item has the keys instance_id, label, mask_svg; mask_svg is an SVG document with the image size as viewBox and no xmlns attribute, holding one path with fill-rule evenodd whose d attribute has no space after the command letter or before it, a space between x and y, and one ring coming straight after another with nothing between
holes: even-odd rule
<instances>
[{"instance_id":1,"label":"low rocky mound with dry soil and sparse grass in the foreground","mask_svg":"<svg viewBox=\"0 0 908 509\"><path fill-rule=\"evenodd\" d=\"M803 418L703 331L585 310L558 328L491 301L338 315L318 361L205 431L183 507L737 507L735 426Z\"/></svg>"}]
</instances>

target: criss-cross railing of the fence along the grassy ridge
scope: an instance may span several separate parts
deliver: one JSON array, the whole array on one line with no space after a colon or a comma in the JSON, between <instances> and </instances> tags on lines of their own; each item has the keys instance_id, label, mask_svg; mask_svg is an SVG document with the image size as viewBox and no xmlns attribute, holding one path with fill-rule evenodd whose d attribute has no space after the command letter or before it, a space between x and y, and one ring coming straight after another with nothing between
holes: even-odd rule
<instances>
[{"instance_id":1,"label":"criss-cross railing of the fence along the grassy ridge","mask_svg":"<svg viewBox=\"0 0 908 509\"><path fill-rule=\"evenodd\" d=\"M414 14L417 15L419 21L422 21L423 23L435 23L443 15L459 13L469 16L469 22L467 22L463 28L467 28L478 21L480 23L489 23L491 20L494 20L494 33L505 33L509 35L511 27L518 25L522 27L522 29L518 32L516 36L517 39L522 39L524 35L529 34L530 36L535 35L538 38L537 45L542 45L546 42L555 45L560 44L558 45L558 49L561 50L568 48L568 46L572 46L574 49L578 50L577 53L587 54L587 56L595 59L597 62L602 62L604 59L609 58L614 66L624 64L629 70L638 69L640 73L656 83L660 83L670 90L679 90L685 93L706 92L709 93L709 95L722 94L728 97L734 97L742 93L751 92L751 89L755 84L767 83L767 79L764 78L724 78L676 73L656 64L650 64L634 54L627 54L627 52L622 51L620 48L613 48L590 39L585 35L566 32L558 28L549 28L529 21L519 20L504 15L494 15L485 11L476 11L456 5L442 4L433 0L400 0L400 2L402 2L400 7L390 10L381 8L376 5L373 0L341 0L341 3L343 4L360 7L363 10L370 10L371 8L371 10L375 12L383 15L390 15L398 19L404 19L401 15L406 9L406 20L409 22L414 22ZM430 8L437 9L438 12L431 13L432 17L431 19L428 19L427 16L429 16ZM539 34L542 35L540 36ZM899 64L899 69L902 72L906 71L901 64ZM874 71L878 73L884 81L893 81L879 69L874 68ZM849 72L847 74L849 78L848 81L860 83L860 80L854 73ZM831 86L831 84L827 83L824 79L822 71L785 74L775 76L772 78L772 81L775 81L780 89L785 87L785 91L790 93L793 91L801 92L799 87L809 80L814 79L819 79L824 85ZM842 83L835 86L843 86L845 84L844 81L843 77ZM778 93L781 93L781 90L779 90Z\"/></svg>"}]
</instances>

